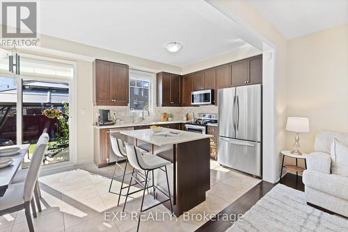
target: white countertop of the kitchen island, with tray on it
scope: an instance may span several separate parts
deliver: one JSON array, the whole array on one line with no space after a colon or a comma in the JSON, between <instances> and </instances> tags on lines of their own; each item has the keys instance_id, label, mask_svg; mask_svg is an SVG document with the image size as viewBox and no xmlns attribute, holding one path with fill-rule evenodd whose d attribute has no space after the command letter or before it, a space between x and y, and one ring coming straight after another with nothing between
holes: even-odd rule
<instances>
[{"instance_id":1,"label":"white countertop of the kitchen island, with tray on it","mask_svg":"<svg viewBox=\"0 0 348 232\"><path fill-rule=\"evenodd\" d=\"M141 140L143 142L148 142L150 144L155 144L159 147L163 145L178 144L182 142L190 142L194 140L202 140L205 138L211 138L213 135L207 135L202 133L193 133L189 131L180 131L175 129L163 129L162 131L175 131L181 132L179 136L158 136L153 135L151 129L136 130L136 131L121 131L120 133L127 135L131 138Z\"/></svg>"}]
</instances>

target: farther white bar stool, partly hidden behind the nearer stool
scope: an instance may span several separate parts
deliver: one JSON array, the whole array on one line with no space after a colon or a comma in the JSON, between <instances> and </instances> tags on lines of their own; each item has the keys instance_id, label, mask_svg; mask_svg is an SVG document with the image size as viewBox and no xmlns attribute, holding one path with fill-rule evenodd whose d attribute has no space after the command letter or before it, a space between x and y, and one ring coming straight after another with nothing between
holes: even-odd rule
<instances>
[{"instance_id":1,"label":"farther white bar stool, partly hidden behind the nearer stool","mask_svg":"<svg viewBox=\"0 0 348 232\"><path fill-rule=\"evenodd\" d=\"M113 169L113 175L112 175L112 178L111 178L109 192L113 193L113 194L118 194L118 201L117 201L117 206L118 206L120 204L120 197L121 196L125 197L125 194L122 194L122 190L124 190L125 188L128 188L128 186L123 187L123 183L125 181L125 176L129 175L129 174L132 174L132 173L129 172L129 173L126 174L128 159L127 159L127 152L125 151L125 147L123 146L123 141L121 139L119 139L119 138L113 137L112 135L110 135L110 141L111 141L111 148L113 150L113 153L116 154L117 160L116 160L116 163L115 163L115 168ZM145 151L145 150L141 149L141 154L145 154L147 152L148 151ZM125 158L126 159L124 168L118 163L120 158ZM120 176L115 176L116 167L120 167L120 169L123 170L123 174L120 175L120 176L122 176L120 192L112 192L111 191L113 179L117 179L118 177L120 177ZM145 180L145 176L142 176L141 174L139 174L139 176L141 176L141 178ZM144 181L142 181L142 183L143 182Z\"/></svg>"}]
</instances>

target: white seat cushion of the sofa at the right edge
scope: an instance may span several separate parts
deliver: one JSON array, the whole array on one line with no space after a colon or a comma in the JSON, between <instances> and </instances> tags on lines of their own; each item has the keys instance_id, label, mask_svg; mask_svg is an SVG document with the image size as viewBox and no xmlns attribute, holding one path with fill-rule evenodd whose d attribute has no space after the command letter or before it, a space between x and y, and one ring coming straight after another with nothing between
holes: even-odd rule
<instances>
[{"instance_id":1,"label":"white seat cushion of the sofa at the right edge","mask_svg":"<svg viewBox=\"0 0 348 232\"><path fill-rule=\"evenodd\" d=\"M348 178L345 176L306 169L303 171L302 180L306 187L348 200Z\"/></svg>"}]
</instances>

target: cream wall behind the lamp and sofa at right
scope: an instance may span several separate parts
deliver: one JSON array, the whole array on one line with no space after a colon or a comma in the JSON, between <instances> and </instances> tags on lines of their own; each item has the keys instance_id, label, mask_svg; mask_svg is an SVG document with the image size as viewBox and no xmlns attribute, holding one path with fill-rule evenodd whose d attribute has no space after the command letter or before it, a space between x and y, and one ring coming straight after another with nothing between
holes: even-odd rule
<instances>
[{"instance_id":1,"label":"cream wall behind the lamp and sofa at right","mask_svg":"<svg viewBox=\"0 0 348 232\"><path fill-rule=\"evenodd\" d=\"M348 24L289 40L287 50L287 116L309 117L300 143L310 152L319 131L348 132ZM293 141L287 132L287 147Z\"/></svg>"}]
</instances>

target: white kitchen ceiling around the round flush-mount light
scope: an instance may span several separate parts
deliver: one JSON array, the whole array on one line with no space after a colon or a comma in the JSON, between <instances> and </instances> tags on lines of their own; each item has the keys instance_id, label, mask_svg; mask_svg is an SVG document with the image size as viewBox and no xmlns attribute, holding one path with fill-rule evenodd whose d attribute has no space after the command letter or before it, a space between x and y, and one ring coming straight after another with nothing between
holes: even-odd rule
<instances>
[{"instance_id":1,"label":"white kitchen ceiling around the round flush-mount light","mask_svg":"<svg viewBox=\"0 0 348 232\"><path fill-rule=\"evenodd\" d=\"M179 67L247 46L236 26L204 0L40 1L39 33Z\"/></svg>"}]
</instances>

